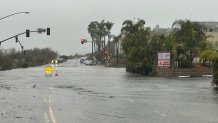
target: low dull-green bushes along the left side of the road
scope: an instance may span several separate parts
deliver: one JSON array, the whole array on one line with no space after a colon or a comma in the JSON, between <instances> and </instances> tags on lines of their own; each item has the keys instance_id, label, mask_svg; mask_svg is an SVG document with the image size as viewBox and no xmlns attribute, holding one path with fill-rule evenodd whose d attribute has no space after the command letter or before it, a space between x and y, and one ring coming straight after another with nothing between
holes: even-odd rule
<instances>
[{"instance_id":1,"label":"low dull-green bushes along the left side of the road","mask_svg":"<svg viewBox=\"0 0 218 123\"><path fill-rule=\"evenodd\" d=\"M57 58L57 52L50 48L35 48L25 52L15 49L0 50L0 70L27 68L48 64Z\"/></svg>"}]
</instances>

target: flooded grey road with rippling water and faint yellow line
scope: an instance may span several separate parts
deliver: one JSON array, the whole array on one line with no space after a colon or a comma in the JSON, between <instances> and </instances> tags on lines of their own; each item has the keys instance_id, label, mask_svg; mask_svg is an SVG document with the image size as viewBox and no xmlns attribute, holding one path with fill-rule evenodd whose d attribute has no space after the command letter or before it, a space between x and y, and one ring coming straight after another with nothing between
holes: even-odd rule
<instances>
[{"instance_id":1,"label":"flooded grey road with rippling water and faint yellow line","mask_svg":"<svg viewBox=\"0 0 218 123\"><path fill-rule=\"evenodd\" d=\"M157 78L71 60L0 72L1 123L217 123L212 78ZM34 85L36 85L34 87Z\"/></svg>"}]
</instances>

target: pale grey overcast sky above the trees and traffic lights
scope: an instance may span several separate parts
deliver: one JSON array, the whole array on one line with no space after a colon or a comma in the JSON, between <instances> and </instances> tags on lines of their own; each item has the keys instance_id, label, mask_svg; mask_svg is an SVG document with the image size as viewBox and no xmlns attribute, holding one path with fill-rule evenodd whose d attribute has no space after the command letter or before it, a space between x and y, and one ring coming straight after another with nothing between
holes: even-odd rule
<instances>
[{"instance_id":1,"label":"pale grey overcast sky above the trees and traffic lights","mask_svg":"<svg viewBox=\"0 0 218 123\"><path fill-rule=\"evenodd\" d=\"M50 47L59 54L91 52L90 43L81 45L80 38L89 38L87 26L91 21L105 19L114 23L112 34L120 32L126 19L141 18L146 26L171 27L176 19L193 21L218 21L217 0L0 0L0 17L21 11L0 20L0 40L39 27L51 28L51 36L33 34L20 36L25 49ZM20 50L15 40L1 48Z\"/></svg>"}]
</instances>

